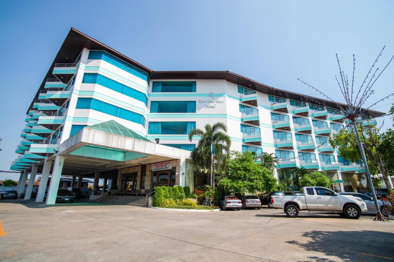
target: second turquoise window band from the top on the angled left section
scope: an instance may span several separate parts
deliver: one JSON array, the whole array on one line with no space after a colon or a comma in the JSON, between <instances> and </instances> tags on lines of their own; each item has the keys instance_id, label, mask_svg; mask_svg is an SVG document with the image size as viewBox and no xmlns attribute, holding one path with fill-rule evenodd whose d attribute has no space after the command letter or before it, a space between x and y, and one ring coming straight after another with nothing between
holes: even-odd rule
<instances>
[{"instance_id":1,"label":"second turquoise window band from the top on the angled left section","mask_svg":"<svg viewBox=\"0 0 394 262\"><path fill-rule=\"evenodd\" d=\"M123 85L115 80L112 80L100 74L85 73L84 78L82 79L82 83L102 85L103 87L112 89L116 92L125 94L126 96L130 96L131 98L142 101L145 103L145 105L148 103L148 98L143 92L139 92L135 89L132 89L131 87Z\"/></svg>"}]
</instances>

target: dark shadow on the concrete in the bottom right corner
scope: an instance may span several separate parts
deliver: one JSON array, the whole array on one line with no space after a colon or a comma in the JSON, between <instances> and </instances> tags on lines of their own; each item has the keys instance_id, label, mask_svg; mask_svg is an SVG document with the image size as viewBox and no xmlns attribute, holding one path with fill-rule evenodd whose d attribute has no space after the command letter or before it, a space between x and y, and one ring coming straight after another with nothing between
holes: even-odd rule
<instances>
[{"instance_id":1,"label":"dark shadow on the concrete in the bottom right corner","mask_svg":"<svg viewBox=\"0 0 394 262\"><path fill-rule=\"evenodd\" d=\"M382 222L376 222L382 223ZM391 223L390 223L391 224ZM388 227L392 226L387 224ZM309 256L305 261L393 261L394 233L381 231L310 231L304 232L307 242L286 241L306 251L320 252L334 256L334 260ZM298 237L298 236L297 236Z\"/></svg>"}]
</instances>

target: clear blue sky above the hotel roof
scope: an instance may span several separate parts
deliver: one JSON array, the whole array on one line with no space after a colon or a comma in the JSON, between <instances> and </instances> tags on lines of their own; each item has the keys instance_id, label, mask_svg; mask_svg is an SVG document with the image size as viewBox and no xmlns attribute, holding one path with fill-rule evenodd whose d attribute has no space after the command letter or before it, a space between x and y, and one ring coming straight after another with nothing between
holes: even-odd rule
<instances>
[{"instance_id":1,"label":"clear blue sky above the hotel roof","mask_svg":"<svg viewBox=\"0 0 394 262\"><path fill-rule=\"evenodd\" d=\"M28 106L71 27L152 70L230 70L320 96L301 78L338 101L336 53L348 74L356 55L356 86L384 45L379 68L394 54L393 1L1 1L0 10L0 170L17 157ZM394 63L386 70L370 103L394 90Z\"/></svg>"}]
</instances>

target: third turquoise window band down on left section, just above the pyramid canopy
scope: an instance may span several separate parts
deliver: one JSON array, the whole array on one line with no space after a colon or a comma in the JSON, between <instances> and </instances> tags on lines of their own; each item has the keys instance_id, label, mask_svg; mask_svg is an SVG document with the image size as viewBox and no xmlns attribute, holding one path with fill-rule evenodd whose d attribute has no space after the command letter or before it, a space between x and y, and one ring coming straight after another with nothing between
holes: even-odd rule
<instances>
[{"instance_id":1,"label":"third turquoise window band down on left section, just above the pyramid canopy","mask_svg":"<svg viewBox=\"0 0 394 262\"><path fill-rule=\"evenodd\" d=\"M128 111L94 98L78 98L76 109L92 109L145 126L145 118L141 114Z\"/></svg>"}]
</instances>

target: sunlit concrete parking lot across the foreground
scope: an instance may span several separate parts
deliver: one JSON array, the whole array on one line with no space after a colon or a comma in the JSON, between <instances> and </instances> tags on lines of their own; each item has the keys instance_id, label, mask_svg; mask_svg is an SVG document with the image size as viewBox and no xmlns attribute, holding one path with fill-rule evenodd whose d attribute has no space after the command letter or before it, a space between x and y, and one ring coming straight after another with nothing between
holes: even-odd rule
<instances>
[{"instance_id":1,"label":"sunlit concrete parking lot across the foreground","mask_svg":"<svg viewBox=\"0 0 394 262\"><path fill-rule=\"evenodd\" d=\"M393 261L394 222L0 201L0 261Z\"/></svg>"}]
</instances>

